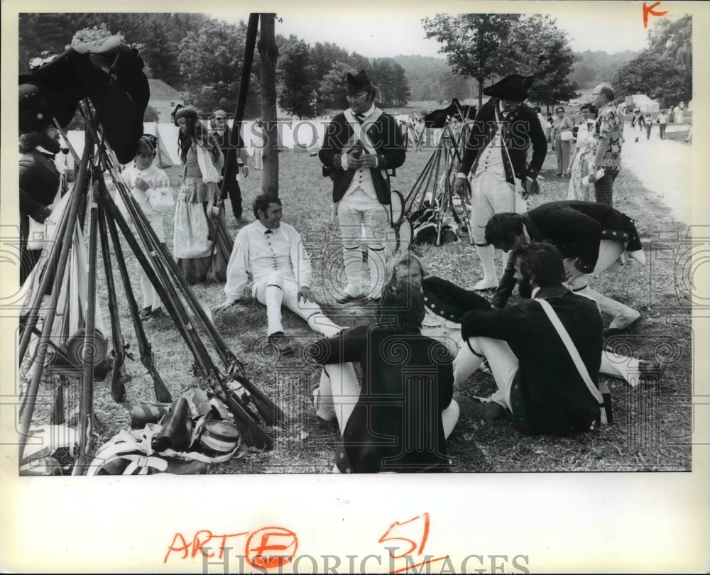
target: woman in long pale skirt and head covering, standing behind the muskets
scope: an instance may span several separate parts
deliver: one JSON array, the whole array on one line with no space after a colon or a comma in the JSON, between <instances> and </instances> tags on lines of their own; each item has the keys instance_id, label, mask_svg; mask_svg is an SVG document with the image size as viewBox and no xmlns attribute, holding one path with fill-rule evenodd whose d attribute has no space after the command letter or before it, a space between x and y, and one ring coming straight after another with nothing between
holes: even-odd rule
<instances>
[{"instance_id":1,"label":"woman in long pale skirt and head covering, standing behind the muskets","mask_svg":"<svg viewBox=\"0 0 710 575\"><path fill-rule=\"evenodd\" d=\"M173 251L180 271L192 285L207 279L212 263L213 241L207 217L219 193L217 182L224 156L194 109L178 106L173 118L180 128L178 150L185 166L175 203Z\"/></svg>"}]
</instances>

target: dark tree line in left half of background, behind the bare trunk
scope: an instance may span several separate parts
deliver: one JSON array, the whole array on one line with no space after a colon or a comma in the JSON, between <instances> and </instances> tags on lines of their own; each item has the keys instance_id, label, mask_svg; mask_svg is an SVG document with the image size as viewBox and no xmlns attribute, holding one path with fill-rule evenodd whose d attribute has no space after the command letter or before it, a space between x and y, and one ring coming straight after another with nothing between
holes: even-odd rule
<instances>
[{"instance_id":1,"label":"dark tree line in left half of background, behind the bare trunk","mask_svg":"<svg viewBox=\"0 0 710 575\"><path fill-rule=\"evenodd\" d=\"M141 50L146 75L163 80L198 109L231 110L244 57L246 23L237 24L195 13L23 13L19 23L19 70L32 57L62 53L68 45L119 34ZM77 35L78 33L78 35ZM276 37L278 104L300 118L346 107L346 72L364 69L380 89L383 106L404 106L410 89L402 66L392 58L368 59L337 45L311 47L290 36ZM245 117L260 115L261 60L255 57Z\"/></svg>"}]
</instances>

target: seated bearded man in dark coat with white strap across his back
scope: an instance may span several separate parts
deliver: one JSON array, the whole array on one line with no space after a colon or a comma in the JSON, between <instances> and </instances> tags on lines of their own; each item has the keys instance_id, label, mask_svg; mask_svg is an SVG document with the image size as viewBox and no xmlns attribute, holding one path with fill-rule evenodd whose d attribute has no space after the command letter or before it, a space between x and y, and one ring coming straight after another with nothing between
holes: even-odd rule
<instances>
[{"instance_id":1,"label":"seated bearded man in dark coat with white strap across his back","mask_svg":"<svg viewBox=\"0 0 710 575\"><path fill-rule=\"evenodd\" d=\"M468 369L474 371L485 358L498 386L488 402L477 404L479 415L495 419L511 412L523 432L586 431L599 414L601 400L599 308L591 298L562 285L564 263L555 246L518 246L510 261L515 279L530 288L532 299L503 310L474 310L461 318L461 336L477 363L469 363ZM555 318L562 332L552 323ZM564 332L579 366L563 343Z\"/></svg>"}]
</instances>

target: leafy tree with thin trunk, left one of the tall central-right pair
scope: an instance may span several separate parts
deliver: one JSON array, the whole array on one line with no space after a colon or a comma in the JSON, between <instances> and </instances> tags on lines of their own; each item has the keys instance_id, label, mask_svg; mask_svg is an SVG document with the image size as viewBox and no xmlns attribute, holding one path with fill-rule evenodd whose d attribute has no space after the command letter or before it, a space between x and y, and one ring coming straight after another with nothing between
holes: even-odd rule
<instances>
[{"instance_id":1,"label":"leafy tree with thin trunk, left one of the tall central-right pair","mask_svg":"<svg viewBox=\"0 0 710 575\"><path fill-rule=\"evenodd\" d=\"M424 18L422 26L427 38L435 38L442 47L449 68L454 74L476 79L479 107L483 99L484 82L508 74L517 51L510 51L508 39L517 14L437 14Z\"/></svg>"}]
</instances>

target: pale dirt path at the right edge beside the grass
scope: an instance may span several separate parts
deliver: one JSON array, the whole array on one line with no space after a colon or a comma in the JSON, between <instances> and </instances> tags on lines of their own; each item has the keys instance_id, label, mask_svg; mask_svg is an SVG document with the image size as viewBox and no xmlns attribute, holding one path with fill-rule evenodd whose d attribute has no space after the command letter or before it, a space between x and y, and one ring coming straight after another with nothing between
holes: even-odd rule
<instances>
[{"instance_id":1,"label":"pale dirt path at the right edge beside the grass","mask_svg":"<svg viewBox=\"0 0 710 575\"><path fill-rule=\"evenodd\" d=\"M688 126L668 126L668 131L687 131ZM661 140L653 126L650 140L646 134L634 141L630 126L624 130L621 169L630 170L645 187L663 197L674 219L690 224L692 214L692 146Z\"/></svg>"}]
</instances>

